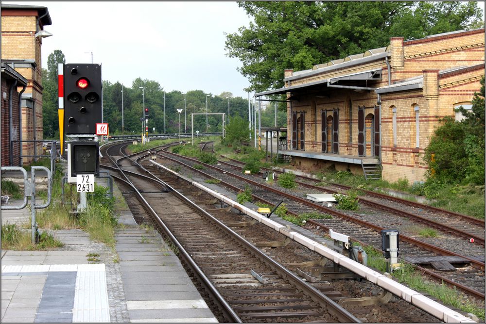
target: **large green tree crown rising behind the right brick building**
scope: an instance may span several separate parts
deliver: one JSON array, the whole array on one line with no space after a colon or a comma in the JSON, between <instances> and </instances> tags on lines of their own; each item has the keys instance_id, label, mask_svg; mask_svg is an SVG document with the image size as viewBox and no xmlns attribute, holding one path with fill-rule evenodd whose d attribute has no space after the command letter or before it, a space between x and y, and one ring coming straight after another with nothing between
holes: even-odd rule
<instances>
[{"instance_id":1,"label":"large green tree crown rising behind the right brick building","mask_svg":"<svg viewBox=\"0 0 486 324\"><path fill-rule=\"evenodd\" d=\"M248 91L283 86L284 69L315 64L405 39L479 27L476 1L239 1L254 18L226 34L229 57L251 83Z\"/></svg>"}]
</instances>

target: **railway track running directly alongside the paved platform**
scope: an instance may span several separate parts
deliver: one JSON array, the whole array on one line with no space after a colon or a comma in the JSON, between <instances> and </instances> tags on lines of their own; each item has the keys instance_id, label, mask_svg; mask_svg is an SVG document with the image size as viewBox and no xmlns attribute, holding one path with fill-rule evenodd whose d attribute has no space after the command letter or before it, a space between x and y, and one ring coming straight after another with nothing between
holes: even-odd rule
<instances>
[{"instance_id":1,"label":"railway track running directly alongside the paved platform","mask_svg":"<svg viewBox=\"0 0 486 324\"><path fill-rule=\"evenodd\" d=\"M109 157L109 150L106 153ZM105 167L123 181L124 191L132 185L132 188L139 188L139 200L146 204L142 208L145 212L139 209L137 214L156 217L157 224L166 228L166 234L167 231L172 233L171 238L178 242L178 249L186 258L191 256L197 264L192 271L201 269L203 276L208 278L209 286L215 288L213 294L224 296L219 308L225 305L226 314L237 315L226 320L360 322L324 293L303 282L198 206L214 209L212 197L196 193L192 188L184 195L168 185L168 182L174 184L174 177L167 176L165 180L168 182L165 182L140 175L145 173L143 169L134 171L134 167L139 168L134 165L138 158L138 155L122 158L116 153L113 159L116 166ZM132 165L128 165L130 163ZM184 183L179 186L182 189L188 187ZM219 212L226 213L224 209ZM225 299L229 300L231 307L226 306Z\"/></svg>"}]
</instances>

